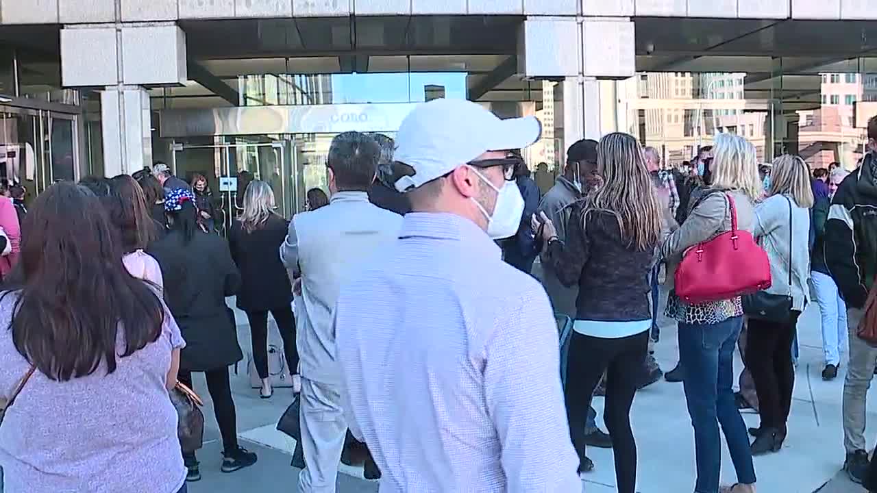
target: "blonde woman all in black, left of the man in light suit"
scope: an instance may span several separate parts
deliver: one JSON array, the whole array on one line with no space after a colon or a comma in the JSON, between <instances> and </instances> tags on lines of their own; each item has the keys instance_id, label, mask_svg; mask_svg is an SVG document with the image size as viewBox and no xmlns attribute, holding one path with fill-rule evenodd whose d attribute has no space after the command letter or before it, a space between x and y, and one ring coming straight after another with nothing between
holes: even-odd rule
<instances>
[{"instance_id":1,"label":"blonde woman all in black, left of the man in light suit","mask_svg":"<svg viewBox=\"0 0 877 493\"><path fill-rule=\"evenodd\" d=\"M242 204L244 210L232 224L229 244L243 281L238 308L250 321L253 362L262 382L260 397L267 399L274 393L268 373L269 311L283 339L283 353L290 373L296 373L298 368L292 286L280 261L280 246L286 239L289 222L275 212L274 191L267 182L250 182Z\"/></svg>"}]
</instances>

